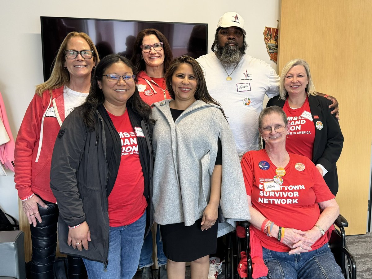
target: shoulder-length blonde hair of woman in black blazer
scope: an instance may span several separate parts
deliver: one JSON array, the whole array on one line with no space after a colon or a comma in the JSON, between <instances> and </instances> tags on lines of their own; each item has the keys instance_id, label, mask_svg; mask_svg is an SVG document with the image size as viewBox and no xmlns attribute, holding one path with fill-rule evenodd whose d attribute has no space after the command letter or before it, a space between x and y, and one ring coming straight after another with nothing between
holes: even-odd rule
<instances>
[{"instance_id":1,"label":"shoulder-length blonde hair of woman in black blazer","mask_svg":"<svg viewBox=\"0 0 372 279\"><path fill-rule=\"evenodd\" d=\"M288 92L287 90L285 90L285 87L284 87L284 81L285 81L285 77L286 75L288 74L289 70L291 70L292 67L294 66L304 66L305 70L306 70L306 75L307 75L307 79L308 79L308 84L305 88L305 92L307 93L307 96L316 96L317 93L315 91L315 86L314 86L314 83L312 82L312 78L311 78L311 74L310 74L310 66L308 64L308 62L306 62L305 60L303 59L294 59L294 60L291 60L289 61L287 64L285 64L283 70L282 70L282 74L280 74L280 89L279 89L279 94L280 94L280 99L282 100L286 100L287 98L287 95L288 95Z\"/></svg>"}]
</instances>

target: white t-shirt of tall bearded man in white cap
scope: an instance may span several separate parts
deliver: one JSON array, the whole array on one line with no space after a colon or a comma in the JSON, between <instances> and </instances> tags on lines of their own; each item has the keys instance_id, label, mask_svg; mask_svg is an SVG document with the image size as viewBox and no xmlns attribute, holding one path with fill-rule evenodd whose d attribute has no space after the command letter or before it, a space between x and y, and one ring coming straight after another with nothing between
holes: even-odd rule
<instances>
[{"instance_id":1,"label":"white t-shirt of tall bearded man in white cap","mask_svg":"<svg viewBox=\"0 0 372 279\"><path fill-rule=\"evenodd\" d=\"M279 95L279 76L266 62L244 55L239 65L226 69L214 52L197 59L205 73L209 94L224 109L230 124L239 158L250 150L259 149L258 117L264 94Z\"/></svg>"}]
</instances>

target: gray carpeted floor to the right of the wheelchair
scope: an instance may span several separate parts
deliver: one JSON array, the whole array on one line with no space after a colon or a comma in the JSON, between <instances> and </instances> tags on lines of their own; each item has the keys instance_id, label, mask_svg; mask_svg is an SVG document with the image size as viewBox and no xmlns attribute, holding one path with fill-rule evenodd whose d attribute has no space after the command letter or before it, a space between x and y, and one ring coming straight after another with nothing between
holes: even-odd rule
<instances>
[{"instance_id":1,"label":"gray carpeted floor to the right of the wheelchair","mask_svg":"<svg viewBox=\"0 0 372 279\"><path fill-rule=\"evenodd\" d=\"M356 261L357 279L372 278L372 233L349 235L346 245Z\"/></svg>"}]
</instances>

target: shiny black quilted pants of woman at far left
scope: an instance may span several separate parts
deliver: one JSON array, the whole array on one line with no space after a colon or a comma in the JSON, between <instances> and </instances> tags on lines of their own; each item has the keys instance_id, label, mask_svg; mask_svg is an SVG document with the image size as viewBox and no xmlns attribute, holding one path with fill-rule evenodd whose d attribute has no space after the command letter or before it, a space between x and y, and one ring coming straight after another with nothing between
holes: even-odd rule
<instances>
[{"instance_id":1,"label":"shiny black quilted pants of woman at far left","mask_svg":"<svg viewBox=\"0 0 372 279\"><path fill-rule=\"evenodd\" d=\"M55 203L47 202L48 208L39 207L42 222L36 220L36 227L30 225L32 241L31 275L32 279L53 279L54 260L57 247L57 221L60 211ZM67 256L68 278L86 279L87 272L83 260Z\"/></svg>"}]
</instances>

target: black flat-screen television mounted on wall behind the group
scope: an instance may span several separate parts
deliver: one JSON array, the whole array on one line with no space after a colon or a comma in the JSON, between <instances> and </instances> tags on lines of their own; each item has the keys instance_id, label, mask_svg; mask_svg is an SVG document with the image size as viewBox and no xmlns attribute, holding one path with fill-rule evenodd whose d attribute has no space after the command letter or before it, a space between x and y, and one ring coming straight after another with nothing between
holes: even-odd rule
<instances>
[{"instance_id":1,"label":"black flat-screen television mounted on wall behind the group","mask_svg":"<svg viewBox=\"0 0 372 279\"><path fill-rule=\"evenodd\" d=\"M48 80L58 48L71 31L87 33L100 58L117 53L131 58L134 40L143 29L155 28L166 36L173 57L188 54L194 58L206 54L207 23L150 22L137 20L86 19L41 16L41 44L44 81Z\"/></svg>"}]
</instances>

